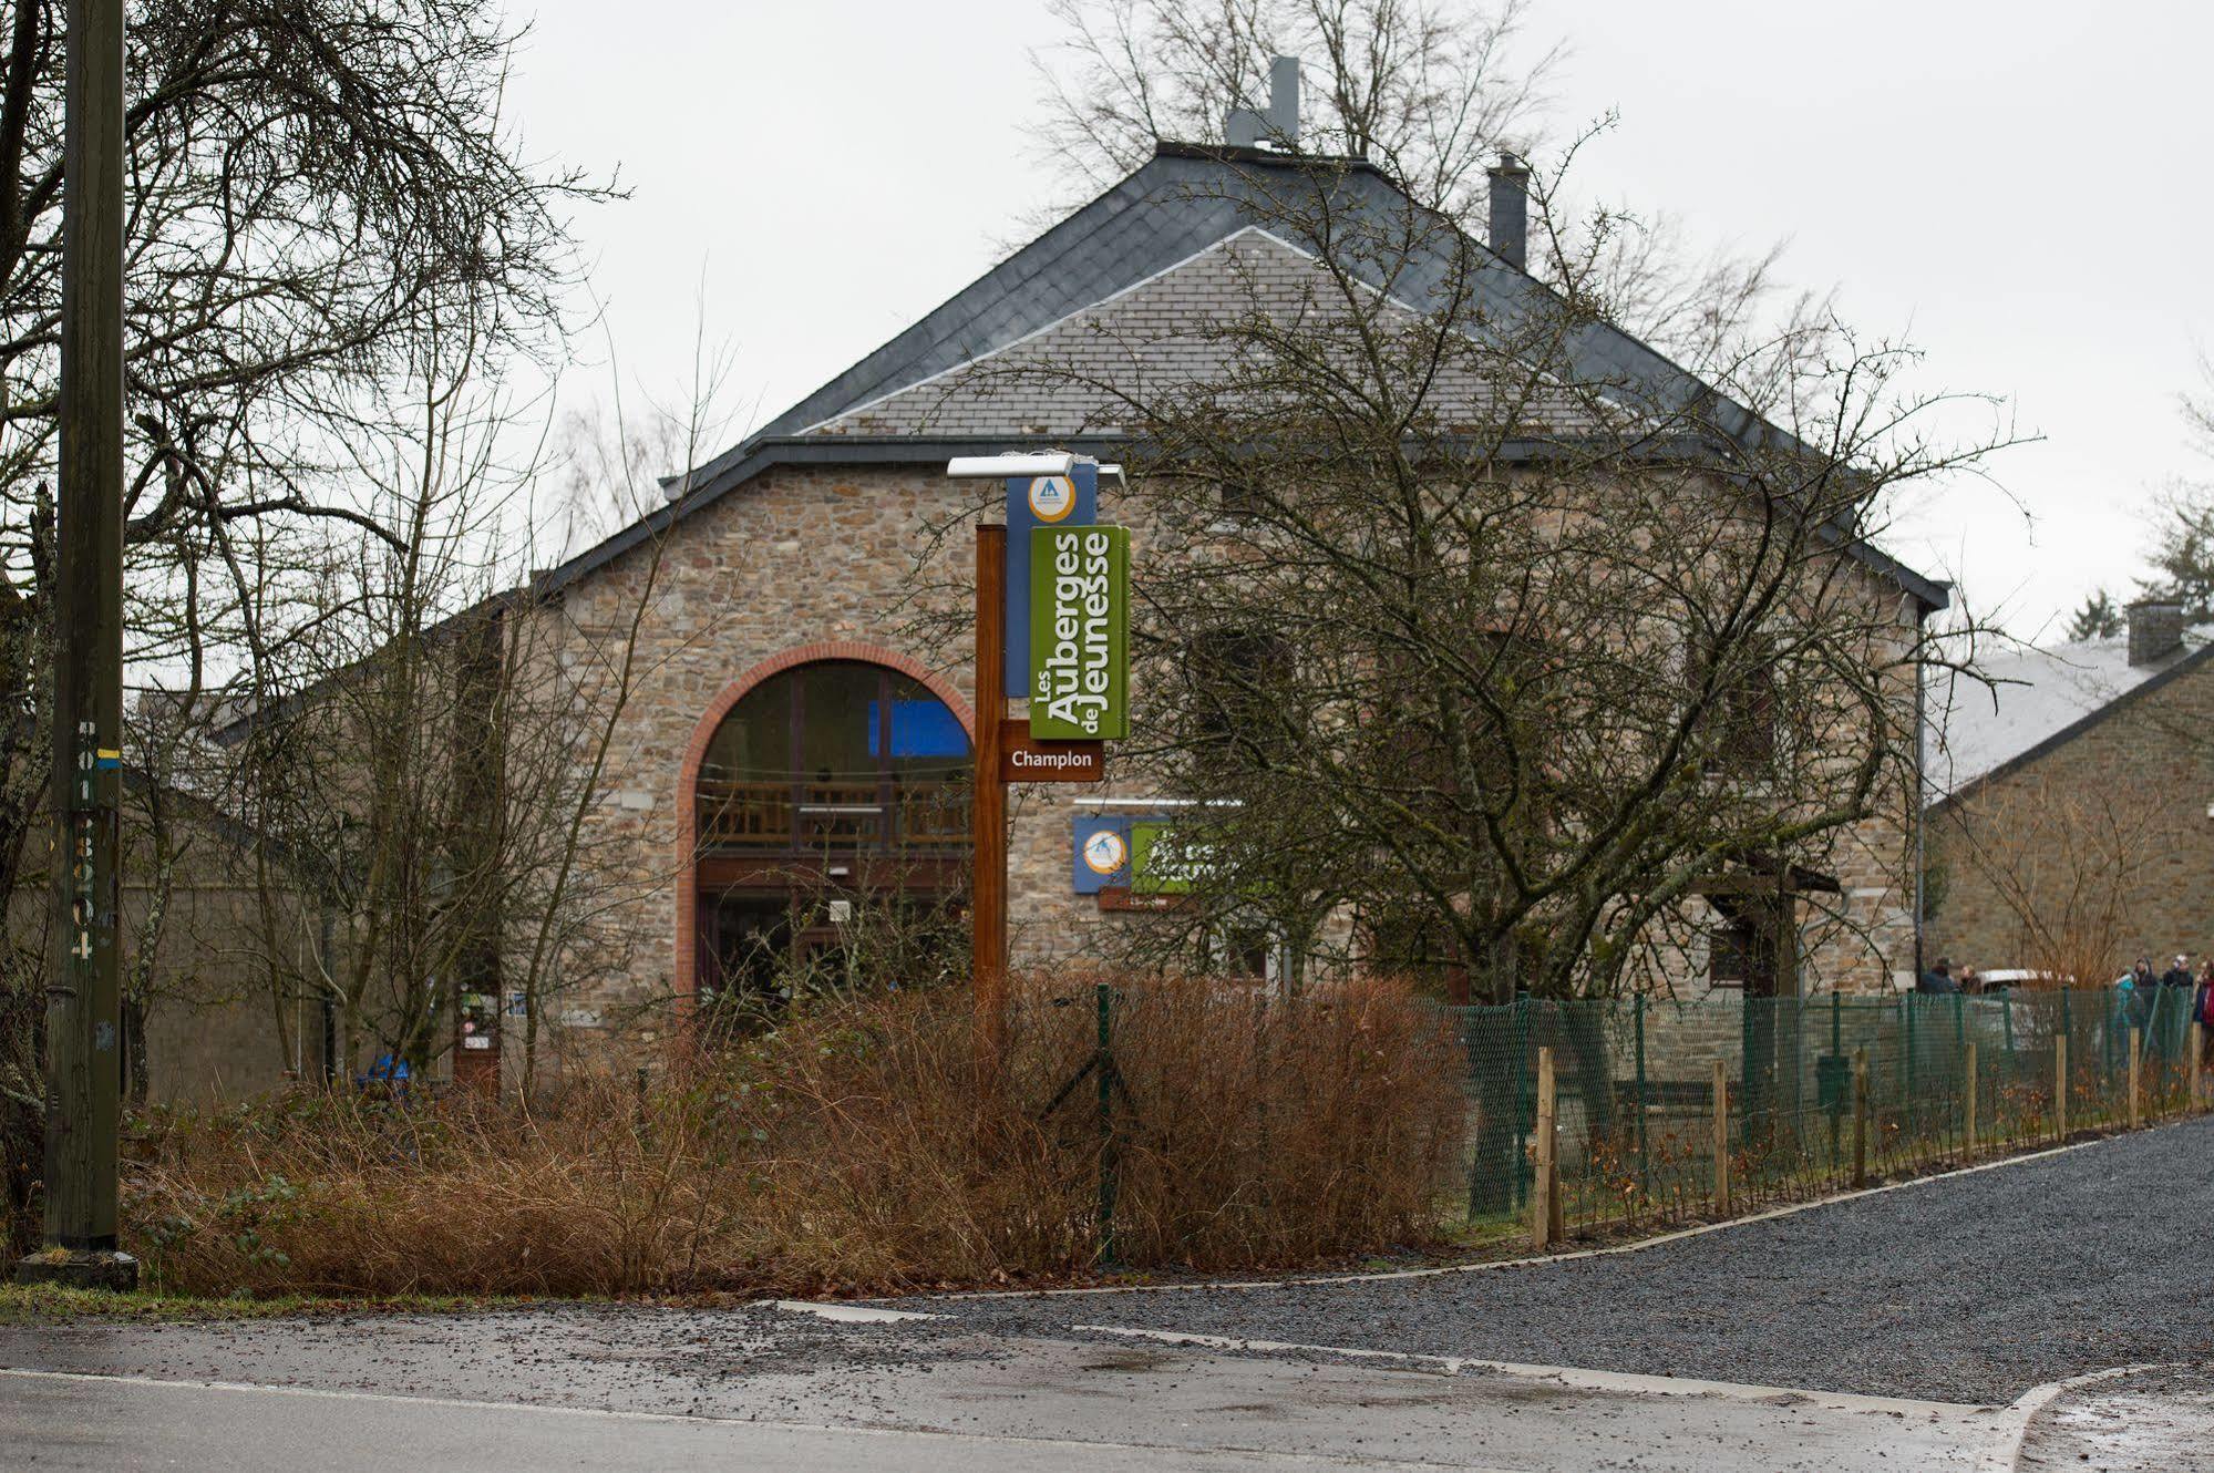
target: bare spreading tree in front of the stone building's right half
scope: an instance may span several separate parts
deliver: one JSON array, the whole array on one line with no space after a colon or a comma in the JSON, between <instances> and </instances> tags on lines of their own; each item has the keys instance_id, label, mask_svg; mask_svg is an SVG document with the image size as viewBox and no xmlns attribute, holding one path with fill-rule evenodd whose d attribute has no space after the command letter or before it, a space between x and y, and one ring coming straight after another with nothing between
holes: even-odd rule
<instances>
[{"instance_id":1,"label":"bare spreading tree in front of the stone building's right half","mask_svg":"<svg viewBox=\"0 0 2214 1473\"><path fill-rule=\"evenodd\" d=\"M1953 658L1869 549L2004 432L1933 441L1946 396L1842 323L1694 381L1594 346L1583 277L1508 270L1450 202L1227 162L1291 250L1224 248L1231 299L1176 323L1176 374L1107 312L945 390L1052 385L1131 439L1127 751L1227 813L1153 944L1260 915L1295 955L1559 997L1621 986L1725 873L1835 871L1869 820L1904 893L1915 682ZM1568 259L1552 195L1534 241Z\"/></svg>"}]
</instances>

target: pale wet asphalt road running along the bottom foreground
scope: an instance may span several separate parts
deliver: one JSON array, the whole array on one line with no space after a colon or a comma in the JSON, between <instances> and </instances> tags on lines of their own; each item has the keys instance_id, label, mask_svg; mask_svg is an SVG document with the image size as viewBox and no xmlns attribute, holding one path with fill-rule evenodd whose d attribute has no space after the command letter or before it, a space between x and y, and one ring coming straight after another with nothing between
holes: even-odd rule
<instances>
[{"instance_id":1,"label":"pale wet asphalt road running along the bottom foreground","mask_svg":"<svg viewBox=\"0 0 2214 1473\"><path fill-rule=\"evenodd\" d=\"M523 1329L505 1327L505 1333ZM1158 1345L941 1342L943 1360L866 1364L883 1329L841 1331L857 1356L813 1371L697 1376L697 1322L660 1356L609 1353L573 1320L503 1400L436 1395L445 1369L498 1369L489 1325L392 1320L354 1356L290 1384L0 1371L9 1469L387 1473L536 1469L881 1469L886 1473L1153 1473L1156 1469L1475 1469L1490 1473L1975 1473L2004 1413L1778 1393L1669 1393L1419 1367L1315 1364ZM485 1333L494 1331L494 1333ZM551 1333L549 1333L551 1331ZM75 1333L75 1331L71 1331ZM82 1347L80 1347L82 1349ZM813 1358L824 1347L813 1347ZM122 1351L122 1356L117 1356ZM308 1347L292 1360L308 1364ZM106 1347L128 1360L128 1347ZM199 1331L164 1356L237 1364ZM863 1364L848 1364L863 1362ZM363 1373L383 1364L381 1376ZM261 1360L263 1376L270 1362ZM213 1382L213 1384L210 1384ZM350 1384L352 1382L352 1384ZM598 1407L593 1402L600 1402ZM662 1407L662 1409L653 1409ZM669 1407L684 1407L682 1411ZM651 1409L651 1411L649 1411Z\"/></svg>"}]
</instances>

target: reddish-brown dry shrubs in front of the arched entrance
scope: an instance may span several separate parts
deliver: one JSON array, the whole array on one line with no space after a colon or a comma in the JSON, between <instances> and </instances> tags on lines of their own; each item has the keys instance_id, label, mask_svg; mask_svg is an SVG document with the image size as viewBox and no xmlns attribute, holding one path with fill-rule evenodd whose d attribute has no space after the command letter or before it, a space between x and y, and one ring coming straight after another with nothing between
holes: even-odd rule
<instances>
[{"instance_id":1,"label":"reddish-brown dry shrubs in front of the arched entrance","mask_svg":"<svg viewBox=\"0 0 2214 1473\"><path fill-rule=\"evenodd\" d=\"M1058 995L1058 997L1056 997ZM1266 1269L1437 1236L1457 1057L1401 986L1295 1006L1204 981L1114 1010L1129 1267ZM1089 983L1016 988L996 1088L965 992L826 1010L525 1112L292 1094L148 1132L126 1238L168 1291L910 1289L1092 1269Z\"/></svg>"}]
</instances>

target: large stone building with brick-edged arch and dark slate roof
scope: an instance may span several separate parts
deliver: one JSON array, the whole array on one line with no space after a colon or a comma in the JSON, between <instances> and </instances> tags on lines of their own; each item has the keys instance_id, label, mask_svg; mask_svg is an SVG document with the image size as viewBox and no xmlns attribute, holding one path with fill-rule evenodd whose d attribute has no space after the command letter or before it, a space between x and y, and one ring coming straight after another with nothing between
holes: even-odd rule
<instances>
[{"instance_id":1,"label":"large stone building with brick-edged arch and dark slate roof","mask_svg":"<svg viewBox=\"0 0 2214 1473\"><path fill-rule=\"evenodd\" d=\"M618 775L591 815L598 851L627 855L629 893L607 904L620 961L580 957L547 1023L578 1034L635 1019L651 1034L666 1023L646 1021L646 1003L673 1001L660 1017L675 1017L704 988L742 986L759 959L835 966L859 902L799 906L799 890L917 913L959 895L976 711L959 642L923 629L965 607L979 505L945 463L1045 445L1122 459L1127 436L1100 394L1010 370L1089 354L1129 379L1209 372L1220 354L1211 315L1295 301L1317 270L1262 222L1262 197L1300 166L1162 144L744 443L675 476L666 507L538 578L542 618L580 638L611 638L646 611L611 751ZM1344 188L1404 208L1379 171L1346 159L1337 173ZM1519 190L1517 168L1494 173L1506 235L1479 279L1503 310L1543 292L1519 255ZM1610 372L1685 379L1618 330L1583 334L1579 352ZM1864 545L1846 554L1871 596L1897 609L1900 645L1944 607L1942 585ZM571 656L565 669L591 680L607 665ZM1083 957L1098 928L1142 924L1114 888L1072 884L1074 842L1087 815L1142 813L1162 797L1140 780L1014 795L1016 964ZM1877 988L1911 972L1913 831L1902 791L1855 826L1838 873L1789 879L1793 904L1809 902L1793 915L1822 908L1835 921L1793 937L1802 986ZM1751 877L1747 895L1762 884L1776 882ZM1731 906L1727 895L1716 904ZM1238 939L1224 957L1269 966L1266 946ZM1687 955L1683 975L1773 986L1773 957L1742 961Z\"/></svg>"}]
</instances>

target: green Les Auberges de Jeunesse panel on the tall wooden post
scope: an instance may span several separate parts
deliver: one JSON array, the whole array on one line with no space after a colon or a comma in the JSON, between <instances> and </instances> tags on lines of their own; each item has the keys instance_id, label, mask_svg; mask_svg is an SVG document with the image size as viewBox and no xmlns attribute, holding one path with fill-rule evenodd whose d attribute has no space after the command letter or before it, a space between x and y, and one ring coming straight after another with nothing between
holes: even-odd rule
<instances>
[{"instance_id":1,"label":"green Les Auberges de Jeunesse panel on the tall wooden post","mask_svg":"<svg viewBox=\"0 0 2214 1473\"><path fill-rule=\"evenodd\" d=\"M1129 735L1129 527L1030 532L1030 735Z\"/></svg>"}]
</instances>

